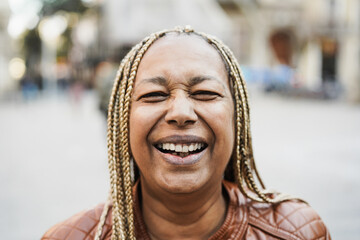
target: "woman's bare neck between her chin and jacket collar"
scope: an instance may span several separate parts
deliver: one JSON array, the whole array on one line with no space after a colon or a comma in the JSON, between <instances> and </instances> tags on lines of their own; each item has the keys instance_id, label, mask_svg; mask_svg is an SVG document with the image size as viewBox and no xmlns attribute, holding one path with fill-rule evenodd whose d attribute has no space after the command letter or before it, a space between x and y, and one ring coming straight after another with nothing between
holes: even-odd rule
<instances>
[{"instance_id":1,"label":"woman's bare neck between her chin and jacket collar","mask_svg":"<svg viewBox=\"0 0 360 240\"><path fill-rule=\"evenodd\" d=\"M222 225L226 201L222 186L189 194L154 194L141 184L142 213L153 240L208 239Z\"/></svg>"}]
</instances>

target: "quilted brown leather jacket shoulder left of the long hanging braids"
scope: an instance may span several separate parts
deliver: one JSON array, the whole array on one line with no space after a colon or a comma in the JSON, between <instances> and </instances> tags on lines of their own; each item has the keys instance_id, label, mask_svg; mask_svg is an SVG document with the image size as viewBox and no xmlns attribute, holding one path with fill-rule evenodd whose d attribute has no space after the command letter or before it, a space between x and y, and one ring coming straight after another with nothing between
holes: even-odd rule
<instances>
[{"instance_id":1,"label":"quilted brown leather jacket shoulder left of the long hanging braids","mask_svg":"<svg viewBox=\"0 0 360 240\"><path fill-rule=\"evenodd\" d=\"M104 204L84 210L51 227L41 240L90 240L94 239ZM108 220L108 218L107 218ZM106 221L104 234L111 229Z\"/></svg>"}]
</instances>

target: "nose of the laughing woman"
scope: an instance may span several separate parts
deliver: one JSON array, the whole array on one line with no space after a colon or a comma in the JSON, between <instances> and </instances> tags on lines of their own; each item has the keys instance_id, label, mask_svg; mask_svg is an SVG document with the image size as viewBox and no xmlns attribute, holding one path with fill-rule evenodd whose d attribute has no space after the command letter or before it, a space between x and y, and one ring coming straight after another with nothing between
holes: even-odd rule
<instances>
[{"instance_id":1,"label":"nose of the laughing woman","mask_svg":"<svg viewBox=\"0 0 360 240\"><path fill-rule=\"evenodd\" d=\"M169 107L165 115L165 121L168 124L175 124L184 127L197 121L198 116L195 113L193 102L185 94L178 94L172 101L169 101Z\"/></svg>"}]
</instances>

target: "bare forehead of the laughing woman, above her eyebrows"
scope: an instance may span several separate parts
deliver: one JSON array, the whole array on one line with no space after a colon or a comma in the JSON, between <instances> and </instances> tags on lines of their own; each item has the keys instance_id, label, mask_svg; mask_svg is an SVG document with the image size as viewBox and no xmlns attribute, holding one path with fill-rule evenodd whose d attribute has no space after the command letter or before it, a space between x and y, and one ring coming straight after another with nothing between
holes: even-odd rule
<instances>
[{"instance_id":1,"label":"bare forehead of the laughing woman, above her eyebrows","mask_svg":"<svg viewBox=\"0 0 360 240\"><path fill-rule=\"evenodd\" d=\"M196 35L168 35L153 43L142 58L137 79L158 74L217 74L227 79L218 51Z\"/></svg>"}]
</instances>

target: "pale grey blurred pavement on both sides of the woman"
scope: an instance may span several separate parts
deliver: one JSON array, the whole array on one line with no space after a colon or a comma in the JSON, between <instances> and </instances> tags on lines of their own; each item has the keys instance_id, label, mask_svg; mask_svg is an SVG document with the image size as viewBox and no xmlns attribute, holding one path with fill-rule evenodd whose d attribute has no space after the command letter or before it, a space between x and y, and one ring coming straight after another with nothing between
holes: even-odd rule
<instances>
[{"instance_id":1,"label":"pale grey blurred pavement on both sides of the woman","mask_svg":"<svg viewBox=\"0 0 360 240\"><path fill-rule=\"evenodd\" d=\"M306 199L333 239L360 239L360 106L257 92L250 106L266 185ZM0 102L1 239L39 239L106 199L105 132L91 92Z\"/></svg>"}]
</instances>

